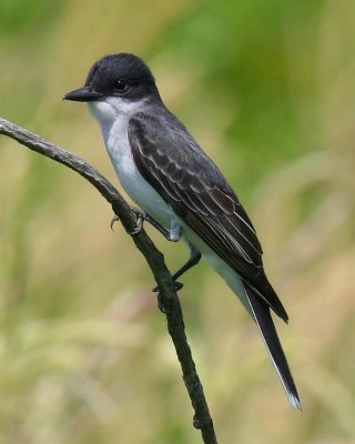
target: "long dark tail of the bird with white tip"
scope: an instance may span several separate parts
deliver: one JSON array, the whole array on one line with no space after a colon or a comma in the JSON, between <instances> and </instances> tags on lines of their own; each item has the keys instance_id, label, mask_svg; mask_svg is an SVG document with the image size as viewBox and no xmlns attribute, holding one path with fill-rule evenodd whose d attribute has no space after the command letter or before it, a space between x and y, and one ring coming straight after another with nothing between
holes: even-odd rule
<instances>
[{"instance_id":1,"label":"long dark tail of the bird with white tip","mask_svg":"<svg viewBox=\"0 0 355 444\"><path fill-rule=\"evenodd\" d=\"M286 356L282 350L282 345L270 313L270 307L260 299L260 296L255 294L253 287L251 287L246 282L243 283L245 287L245 295L250 303L256 325L265 342L266 349L286 392L288 401L294 408L302 410L302 402L300 400L296 385L293 381Z\"/></svg>"}]
</instances>

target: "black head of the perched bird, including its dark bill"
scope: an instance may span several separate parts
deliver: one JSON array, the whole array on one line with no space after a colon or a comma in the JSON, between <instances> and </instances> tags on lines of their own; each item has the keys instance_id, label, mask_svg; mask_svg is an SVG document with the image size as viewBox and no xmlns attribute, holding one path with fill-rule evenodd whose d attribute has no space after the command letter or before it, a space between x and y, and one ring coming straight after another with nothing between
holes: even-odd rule
<instances>
[{"instance_id":1,"label":"black head of the perched bird, including its dark bill","mask_svg":"<svg viewBox=\"0 0 355 444\"><path fill-rule=\"evenodd\" d=\"M148 65L136 56L106 56L91 68L85 85L69 92L65 100L92 102L108 97L141 100L158 97L155 80Z\"/></svg>"}]
</instances>

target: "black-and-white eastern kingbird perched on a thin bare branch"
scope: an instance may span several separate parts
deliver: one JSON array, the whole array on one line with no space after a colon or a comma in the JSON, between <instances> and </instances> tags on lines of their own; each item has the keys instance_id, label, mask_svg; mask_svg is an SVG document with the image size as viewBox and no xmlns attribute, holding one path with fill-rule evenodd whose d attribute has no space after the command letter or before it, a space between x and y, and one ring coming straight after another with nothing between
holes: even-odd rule
<instances>
[{"instance_id":1,"label":"black-and-white eastern kingbird perched on a thin bare branch","mask_svg":"<svg viewBox=\"0 0 355 444\"><path fill-rule=\"evenodd\" d=\"M271 310L288 316L265 275L255 229L221 171L164 105L146 64L130 53L104 57L64 99L88 102L123 189L146 219L168 240L187 242L190 260L174 280L201 254L210 262L255 321L291 405L301 410Z\"/></svg>"}]
</instances>

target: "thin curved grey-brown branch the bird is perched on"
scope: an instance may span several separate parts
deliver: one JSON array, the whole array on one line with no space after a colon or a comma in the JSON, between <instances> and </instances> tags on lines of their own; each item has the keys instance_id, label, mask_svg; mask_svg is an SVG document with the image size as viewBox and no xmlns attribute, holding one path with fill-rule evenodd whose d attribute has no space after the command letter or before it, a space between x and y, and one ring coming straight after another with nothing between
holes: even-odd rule
<instances>
[{"instance_id":1,"label":"thin curved grey-brown branch the bird is perched on","mask_svg":"<svg viewBox=\"0 0 355 444\"><path fill-rule=\"evenodd\" d=\"M120 218L126 232L131 233L134 230L136 218L130 205L124 201L118 190L83 159L1 118L0 134L14 139L30 150L60 162L85 178L112 205L114 213ZM202 438L205 444L216 444L217 441L203 386L196 373L191 349L186 340L180 301L174 290L172 276L164 263L164 256L156 249L144 230L140 231L138 234L131 235L131 238L144 255L159 286L160 304L164 307L168 331L174 343L183 373L183 380L195 412L193 425L201 430Z\"/></svg>"}]
</instances>

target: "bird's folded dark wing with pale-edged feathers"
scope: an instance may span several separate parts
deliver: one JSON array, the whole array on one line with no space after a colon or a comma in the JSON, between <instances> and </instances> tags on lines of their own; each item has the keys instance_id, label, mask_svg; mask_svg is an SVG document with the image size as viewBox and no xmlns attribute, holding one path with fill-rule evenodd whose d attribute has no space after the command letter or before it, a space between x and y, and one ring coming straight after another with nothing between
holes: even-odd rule
<instances>
[{"instance_id":1,"label":"bird's folded dark wing with pale-edged feathers","mask_svg":"<svg viewBox=\"0 0 355 444\"><path fill-rule=\"evenodd\" d=\"M173 119L174 124L171 124ZM129 122L136 168L174 212L276 314L287 314L264 273L262 248L237 196L182 123L170 114L138 113Z\"/></svg>"}]
</instances>

